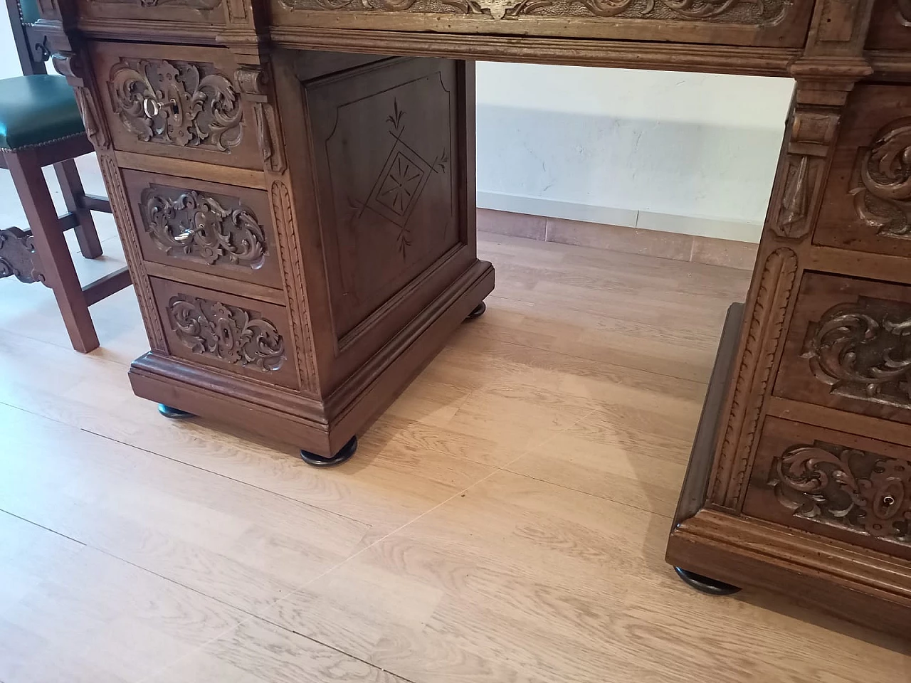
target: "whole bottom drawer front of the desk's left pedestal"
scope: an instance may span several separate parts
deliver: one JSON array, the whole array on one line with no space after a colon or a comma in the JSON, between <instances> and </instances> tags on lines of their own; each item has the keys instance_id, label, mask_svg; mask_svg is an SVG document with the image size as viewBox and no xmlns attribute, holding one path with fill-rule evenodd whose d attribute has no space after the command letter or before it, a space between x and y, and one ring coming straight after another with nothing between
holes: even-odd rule
<instances>
[{"instance_id":1,"label":"whole bottom drawer front of the desk's left pedestal","mask_svg":"<svg viewBox=\"0 0 911 683\"><path fill-rule=\"evenodd\" d=\"M172 356L298 387L284 308L170 280L149 280Z\"/></svg>"}]
</instances>

